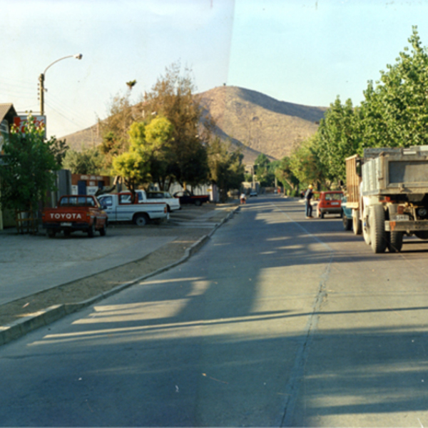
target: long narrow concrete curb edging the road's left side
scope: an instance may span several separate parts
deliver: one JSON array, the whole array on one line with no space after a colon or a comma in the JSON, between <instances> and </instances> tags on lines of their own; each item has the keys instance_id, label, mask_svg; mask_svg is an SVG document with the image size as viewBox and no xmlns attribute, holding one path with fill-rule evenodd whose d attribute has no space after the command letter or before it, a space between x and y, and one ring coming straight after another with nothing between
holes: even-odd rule
<instances>
[{"instance_id":1,"label":"long narrow concrete curb edging the road's left side","mask_svg":"<svg viewBox=\"0 0 428 428\"><path fill-rule=\"evenodd\" d=\"M223 223L225 223L226 221L228 221L239 209L240 205L233 208L233 210L231 210L230 213L228 213L228 215L220 221L220 223L215 225L215 227L213 228L213 230L210 231L210 233L208 233L207 235L203 235L200 240L198 240L185 250L185 254L182 258L180 258L180 260L171 263L170 265L161 267L160 269L148 273L147 275L143 275L142 277L138 277L135 280L125 282L124 284L118 285L117 287L114 287L111 290L103 292L101 295L91 297L90 299L84 300L83 302L54 305L46 308L45 310L40 310L34 315L24 317L19 321L11 322L10 324L0 326L0 346L6 345L6 343L11 342L12 340L16 340L19 337L22 337L27 333L38 329L39 327L49 325L51 324L51 322L59 320L60 318L65 317L66 315L72 314L73 312L78 312L79 310L82 310L85 307L91 306L94 303L99 302L100 300L106 299L106 297L115 295L118 292L121 292L122 290L131 287L131 285L134 285L137 282L146 280L149 277L153 277L161 272L165 272L165 270L169 270L172 267L184 263L185 260L188 260L188 258L190 258L190 256L195 253L196 250L198 250L198 248L202 247L202 245L205 244L205 242L211 238L211 236L215 233L215 230L220 228L220 226L223 225Z\"/></svg>"}]
</instances>

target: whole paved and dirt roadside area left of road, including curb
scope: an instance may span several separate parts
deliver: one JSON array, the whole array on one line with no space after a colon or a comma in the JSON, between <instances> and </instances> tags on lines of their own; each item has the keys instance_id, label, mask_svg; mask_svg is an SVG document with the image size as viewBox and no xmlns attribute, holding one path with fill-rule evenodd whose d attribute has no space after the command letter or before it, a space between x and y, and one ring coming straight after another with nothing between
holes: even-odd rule
<instances>
[{"instance_id":1,"label":"whole paved and dirt roadside area left of road, including curb","mask_svg":"<svg viewBox=\"0 0 428 428\"><path fill-rule=\"evenodd\" d=\"M166 225L111 226L95 238L0 231L0 345L183 263L238 208L184 208Z\"/></svg>"}]
</instances>

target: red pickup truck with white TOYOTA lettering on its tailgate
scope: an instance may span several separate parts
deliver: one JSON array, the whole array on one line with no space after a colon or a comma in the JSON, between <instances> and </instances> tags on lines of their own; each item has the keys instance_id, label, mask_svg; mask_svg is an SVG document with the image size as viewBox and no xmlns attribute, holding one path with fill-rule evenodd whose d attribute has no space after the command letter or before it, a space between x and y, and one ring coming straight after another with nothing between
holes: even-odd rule
<instances>
[{"instance_id":1,"label":"red pickup truck with white TOYOTA lettering on its tailgate","mask_svg":"<svg viewBox=\"0 0 428 428\"><path fill-rule=\"evenodd\" d=\"M46 208L41 214L43 228L49 238L63 231L68 236L75 230L82 230L93 237L94 230L101 236L106 235L107 214L92 195L65 195L58 201L56 208Z\"/></svg>"}]
</instances>

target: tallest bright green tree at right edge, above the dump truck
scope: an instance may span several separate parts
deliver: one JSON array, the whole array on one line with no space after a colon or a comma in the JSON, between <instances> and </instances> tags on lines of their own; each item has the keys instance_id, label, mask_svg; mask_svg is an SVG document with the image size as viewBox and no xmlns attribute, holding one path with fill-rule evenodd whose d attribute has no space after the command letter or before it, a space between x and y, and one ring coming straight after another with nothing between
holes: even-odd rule
<instances>
[{"instance_id":1,"label":"tallest bright green tree at right edge, above the dump truck","mask_svg":"<svg viewBox=\"0 0 428 428\"><path fill-rule=\"evenodd\" d=\"M428 144L428 54L417 32L396 63L387 64L376 86L369 81L362 102L363 147Z\"/></svg>"}]
</instances>

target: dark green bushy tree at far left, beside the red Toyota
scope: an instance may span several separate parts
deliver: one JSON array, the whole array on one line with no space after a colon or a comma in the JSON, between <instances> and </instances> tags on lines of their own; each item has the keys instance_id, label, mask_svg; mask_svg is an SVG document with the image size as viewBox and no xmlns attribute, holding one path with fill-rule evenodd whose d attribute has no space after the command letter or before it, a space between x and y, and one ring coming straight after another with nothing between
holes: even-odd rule
<instances>
[{"instance_id":1,"label":"dark green bushy tree at far left, beside the red Toyota","mask_svg":"<svg viewBox=\"0 0 428 428\"><path fill-rule=\"evenodd\" d=\"M6 165L0 168L0 203L4 208L36 215L46 192L55 188L54 171L59 169L55 144L56 138L45 141L44 129L36 128L31 116L25 133L11 129L9 141L3 146Z\"/></svg>"}]
</instances>

